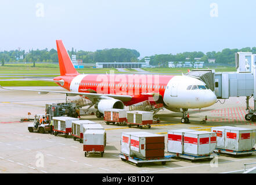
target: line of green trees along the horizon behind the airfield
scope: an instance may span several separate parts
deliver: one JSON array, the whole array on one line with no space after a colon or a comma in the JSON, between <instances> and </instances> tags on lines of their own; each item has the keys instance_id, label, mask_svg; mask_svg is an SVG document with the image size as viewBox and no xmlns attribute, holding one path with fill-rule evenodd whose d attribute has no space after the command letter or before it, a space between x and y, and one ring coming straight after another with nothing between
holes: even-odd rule
<instances>
[{"instance_id":1,"label":"line of green trees along the horizon behind the airfield","mask_svg":"<svg viewBox=\"0 0 256 185\"><path fill-rule=\"evenodd\" d=\"M214 58L217 64L234 64L235 53L238 51L256 53L256 47L244 47L242 49L223 49L222 51L209 51L203 53L201 51L183 52L177 54L155 54L149 56L150 65L153 66L168 66L171 61L195 61L194 58L201 58L200 61L208 62L209 58ZM96 62L144 62L145 58L139 60L140 53L134 49L104 49L96 51L68 51L71 54L76 54L77 60L82 60L84 63ZM190 58L186 60L186 58ZM57 62L57 51L55 49L48 50L29 50L27 53L24 50L0 51L0 61L2 65L5 62Z\"/></svg>"}]
</instances>

